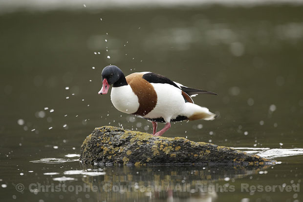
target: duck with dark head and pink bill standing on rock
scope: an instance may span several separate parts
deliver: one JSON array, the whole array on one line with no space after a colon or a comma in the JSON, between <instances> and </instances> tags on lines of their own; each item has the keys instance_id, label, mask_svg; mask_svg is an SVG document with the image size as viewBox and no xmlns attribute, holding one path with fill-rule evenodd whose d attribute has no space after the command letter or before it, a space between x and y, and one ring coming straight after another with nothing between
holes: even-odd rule
<instances>
[{"instance_id":1,"label":"duck with dark head and pink bill standing on rock","mask_svg":"<svg viewBox=\"0 0 303 202\"><path fill-rule=\"evenodd\" d=\"M102 70L102 88L98 94L107 94L111 85L113 106L120 112L150 121L154 136L162 136L171 128L171 122L216 118L206 107L196 105L192 97L217 93L189 88L160 74L146 71L125 76L119 67L110 65ZM158 122L165 126L157 132Z\"/></svg>"}]
</instances>

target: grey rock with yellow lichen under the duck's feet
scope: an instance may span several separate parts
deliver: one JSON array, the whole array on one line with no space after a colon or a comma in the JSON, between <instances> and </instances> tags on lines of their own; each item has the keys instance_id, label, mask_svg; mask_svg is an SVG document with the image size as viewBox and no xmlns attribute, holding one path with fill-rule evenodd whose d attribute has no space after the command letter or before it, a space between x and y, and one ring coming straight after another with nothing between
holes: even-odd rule
<instances>
[{"instance_id":1,"label":"grey rock with yellow lichen under the duck's feet","mask_svg":"<svg viewBox=\"0 0 303 202\"><path fill-rule=\"evenodd\" d=\"M86 164L235 164L262 166L276 161L224 146L162 137L113 126L87 136L80 161Z\"/></svg>"}]
</instances>

